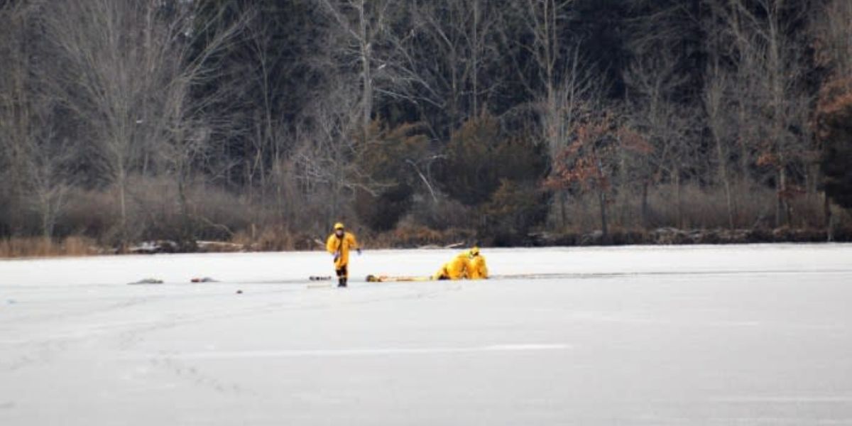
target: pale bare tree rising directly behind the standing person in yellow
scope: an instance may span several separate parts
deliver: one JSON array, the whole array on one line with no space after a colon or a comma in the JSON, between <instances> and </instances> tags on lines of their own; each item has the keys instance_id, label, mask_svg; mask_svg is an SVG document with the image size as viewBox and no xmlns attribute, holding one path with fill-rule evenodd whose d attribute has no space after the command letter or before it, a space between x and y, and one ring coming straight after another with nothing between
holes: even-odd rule
<instances>
[{"instance_id":1,"label":"pale bare tree rising directly behind the standing person in yellow","mask_svg":"<svg viewBox=\"0 0 852 426\"><path fill-rule=\"evenodd\" d=\"M338 216L344 199L356 189L375 196L381 187L360 169L358 161L377 136L374 102L385 99L435 106L439 96L413 53L417 36L429 30L423 14L419 20L409 19L408 8L419 13L416 4L316 1L332 23L327 33L329 48L316 58L325 60L325 90L302 113L294 161L303 180L329 189L331 216ZM352 88L357 88L357 103L353 103Z\"/></svg>"}]
</instances>

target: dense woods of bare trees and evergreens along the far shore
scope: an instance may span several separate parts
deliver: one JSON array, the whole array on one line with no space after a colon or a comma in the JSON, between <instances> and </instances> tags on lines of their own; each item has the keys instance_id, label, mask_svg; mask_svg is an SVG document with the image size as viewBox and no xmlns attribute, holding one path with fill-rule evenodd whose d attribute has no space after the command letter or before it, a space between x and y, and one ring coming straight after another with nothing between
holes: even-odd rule
<instances>
[{"instance_id":1,"label":"dense woods of bare trees and evergreens along the far shore","mask_svg":"<svg viewBox=\"0 0 852 426\"><path fill-rule=\"evenodd\" d=\"M0 41L4 239L852 223L848 0L0 0Z\"/></svg>"}]
</instances>

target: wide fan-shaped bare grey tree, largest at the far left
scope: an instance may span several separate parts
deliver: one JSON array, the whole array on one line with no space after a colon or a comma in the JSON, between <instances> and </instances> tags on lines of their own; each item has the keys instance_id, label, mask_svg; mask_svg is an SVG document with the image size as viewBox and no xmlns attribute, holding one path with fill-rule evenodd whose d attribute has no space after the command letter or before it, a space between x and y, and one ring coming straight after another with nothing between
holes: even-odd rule
<instances>
[{"instance_id":1,"label":"wide fan-shaped bare grey tree, largest at the far left","mask_svg":"<svg viewBox=\"0 0 852 426\"><path fill-rule=\"evenodd\" d=\"M65 68L55 90L93 135L95 167L115 185L121 241L127 239L127 190L158 106L148 96L164 82L156 67L162 52L152 45L153 3L68 0L46 9L49 37Z\"/></svg>"}]
</instances>

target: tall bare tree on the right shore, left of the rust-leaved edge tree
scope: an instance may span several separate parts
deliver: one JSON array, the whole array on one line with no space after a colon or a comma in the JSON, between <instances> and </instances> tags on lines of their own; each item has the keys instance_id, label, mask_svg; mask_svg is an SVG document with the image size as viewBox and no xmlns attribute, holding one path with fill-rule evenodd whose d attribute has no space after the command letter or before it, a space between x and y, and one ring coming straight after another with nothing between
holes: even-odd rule
<instances>
[{"instance_id":1,"label":"tall bare tree on the right shore, left of the rust-leaved edge tree","mask_svg":"<svg viewBox=\"0 0 852 426\"><path fill-rule=\"evenodd\" d=\"M749 78L751 105L745 110L762 114L751 123L757 164L773 170L776 188L775 225L790 224L792 210L789 171L811 151L809 124L802 114L809 95L802 80L807 72L798 25L807 8L786 0L708 0L723 22L728 42L741 58L740 70ZM748 60L746 62L746 60ZM746 101L746 100L743 100ZM746 124L745 120L741 124Z\"/></svg>"}]
</instances>

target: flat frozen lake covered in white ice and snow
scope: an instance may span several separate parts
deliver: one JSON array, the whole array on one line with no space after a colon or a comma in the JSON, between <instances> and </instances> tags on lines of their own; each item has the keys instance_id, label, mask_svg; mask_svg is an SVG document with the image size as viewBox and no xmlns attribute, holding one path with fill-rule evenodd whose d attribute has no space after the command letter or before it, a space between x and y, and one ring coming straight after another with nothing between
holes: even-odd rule
<instances>
[{"instance_id":1,"label":"flat frozen lake covered in white ice and snow","mask_svg":"<svg viewBox=\"0 0 852 426\"><path fill-rule=\"evenodd\" d=\"M852 424L852 245L453 253L0 261L0 424Z\"/></svg>"}]
</instances>

